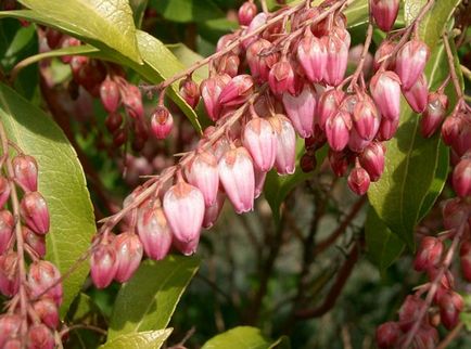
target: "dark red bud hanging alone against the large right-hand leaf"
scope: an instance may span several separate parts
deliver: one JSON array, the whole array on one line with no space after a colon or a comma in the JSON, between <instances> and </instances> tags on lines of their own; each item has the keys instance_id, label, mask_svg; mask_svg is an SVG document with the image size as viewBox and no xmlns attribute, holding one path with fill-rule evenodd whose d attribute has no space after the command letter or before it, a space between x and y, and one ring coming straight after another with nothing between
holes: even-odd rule
<instances>
[{"instance_id":1,"label":"dark red bud hanging alone against the large right-hand leaf","mask_svg":"<svg viewBox=\"0 0 471 349\"><path fill-rule=\"evenodd\" d=\"M420 131L424 138L432 137L443 119L448 107L448 98L444 93L433 92L429 94L425 111L420 119Z\"/></svg>"}]
</instances>

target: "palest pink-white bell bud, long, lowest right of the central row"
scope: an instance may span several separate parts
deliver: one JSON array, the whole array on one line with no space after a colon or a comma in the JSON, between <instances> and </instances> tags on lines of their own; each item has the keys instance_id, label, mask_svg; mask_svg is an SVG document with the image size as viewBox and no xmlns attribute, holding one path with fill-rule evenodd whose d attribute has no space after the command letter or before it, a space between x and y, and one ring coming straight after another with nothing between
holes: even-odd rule
<instances>
[{"instance_id":1,"label":"palest pink-white bell bud, long, lowest right of the central row","mask_svg":"<svg viewBox=\"0 0 471 349\"><path fill-rule=\"evenodd\" d=\"M236 212L254 209L255 173L252 157L243 147L227 152L218 164L219 178Z\"/></svg>"}]
</instances>

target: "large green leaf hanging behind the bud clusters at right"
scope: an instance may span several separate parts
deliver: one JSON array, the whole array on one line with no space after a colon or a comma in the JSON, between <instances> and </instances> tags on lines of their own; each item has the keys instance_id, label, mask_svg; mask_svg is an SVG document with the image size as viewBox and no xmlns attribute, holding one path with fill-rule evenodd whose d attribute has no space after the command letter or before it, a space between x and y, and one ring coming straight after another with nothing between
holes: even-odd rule
<instances>
[{"instance_id":1,"label":"large green leaf hanging behind the bud clusters at right","mask_svg":"<svg viewBox=\"0 0 471 349\"><path fill-rule=\"evenodd\" d=\"M454 9L454 3L448 3L446 12L450 13ZM443 13L436 15L447 17ZM433 21L428 23L432 26ZM434 28L434 33L438 31ZM433 91L448 75L446 54L443 44L436 46L438 38L427 36L422 39L432 52L425 67L425 75L429 88ZM447 94L453 106L453 90L447 90ZM433 181L437 177L437 171L443 171L443 167L438 166L442 146L438 134L431 139L422 138L420 117L403 99L399 128L394 139L386 144L384 173L380 181L371 185L368 196L380 219L393 233L402 237L410 249L415 248L413 228L417 221L427 214L430 199L434 201L433 196L430 196L425 202L425 197L431 190L436 192ZM436 197L437 194L431 195Z\"/></svg>"}]
</instances>

